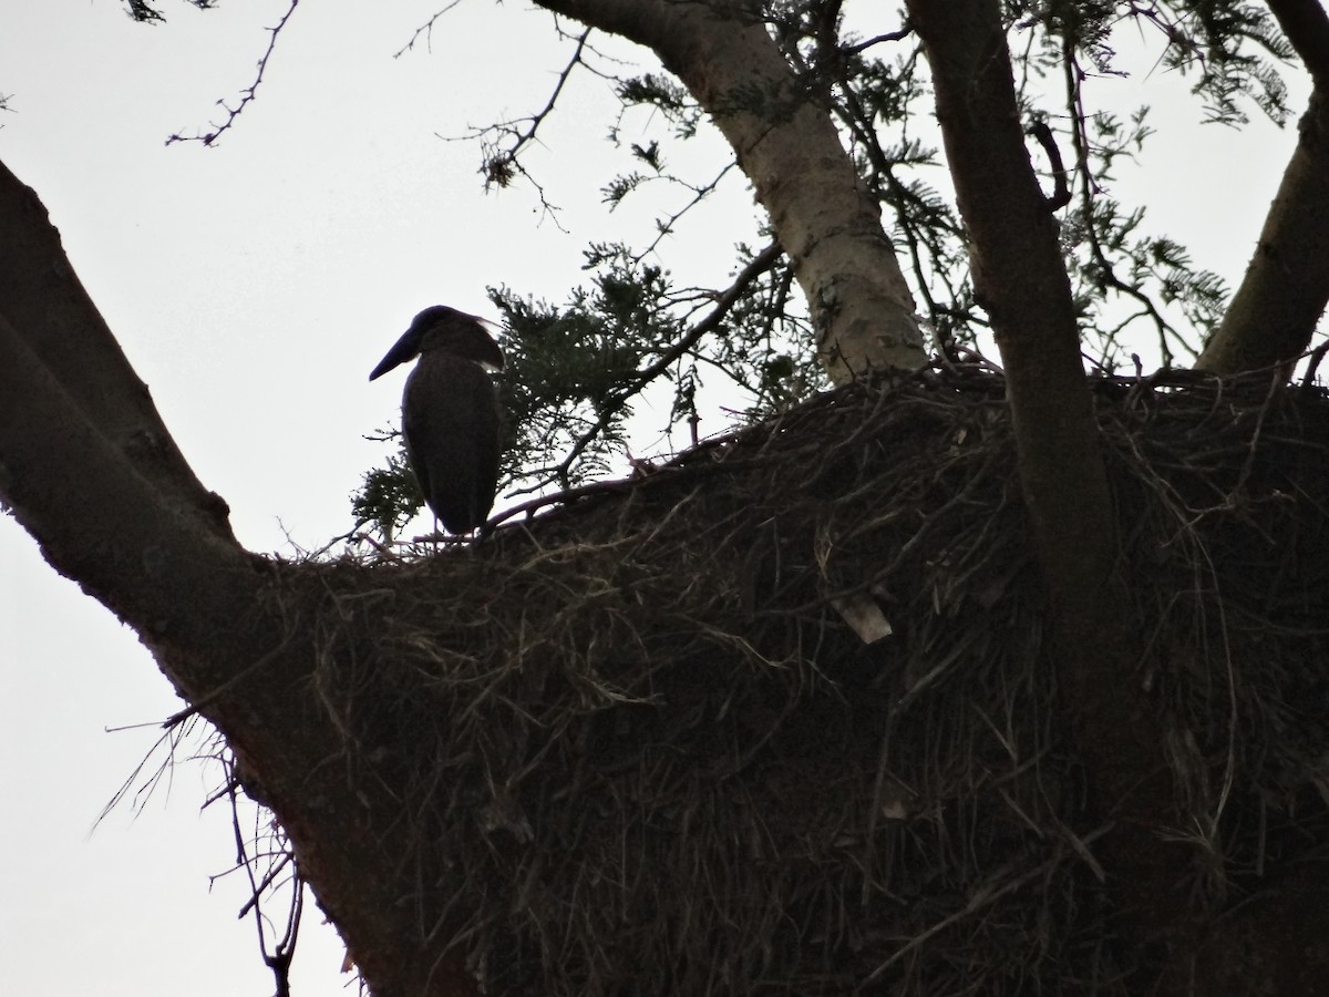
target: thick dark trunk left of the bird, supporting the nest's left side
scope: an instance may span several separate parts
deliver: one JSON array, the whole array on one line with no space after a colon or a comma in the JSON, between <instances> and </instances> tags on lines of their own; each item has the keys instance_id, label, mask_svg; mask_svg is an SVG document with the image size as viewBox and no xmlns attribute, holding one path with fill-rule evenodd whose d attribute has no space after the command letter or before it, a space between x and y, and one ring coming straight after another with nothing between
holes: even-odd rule
<instances>
[{"instance_id":1,"label":"thick dark trunk left of the bird, supporting the nest's left side","mask_svg":"<svg viewBox=\"0 0 1329 997\"><path fill-rule=\"evenodd\" d=\"M335 593L335 573L239 546L36 194L4 166L0 266L0 496L15 518L226 736L375 994L473 994L460 957L444 953L445 925L423 937L441 900L401 903L400 787L383 774L352 783L335 763L344 746L315 698L307 615Z\"/></svg>"}]
</instances>

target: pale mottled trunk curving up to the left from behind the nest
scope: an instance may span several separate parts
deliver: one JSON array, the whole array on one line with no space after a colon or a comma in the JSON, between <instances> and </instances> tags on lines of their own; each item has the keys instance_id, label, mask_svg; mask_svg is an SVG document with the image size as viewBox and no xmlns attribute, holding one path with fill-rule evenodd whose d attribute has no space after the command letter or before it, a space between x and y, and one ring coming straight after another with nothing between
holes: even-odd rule
<instances>
[{"instance_id":1,"label":"pale mottled trunk curving up to the left from behind the nest","mask_svg":"<svg viewBox=\"0 0 1329 997\"><path fill-rule=\"evenodd\" d=\"M828 108L797 78L754 4L537 3L653 49L711 116L793 263L819 355L835 380L926 362L881 209L845 154Z\"/></svg>"}]
</instances>

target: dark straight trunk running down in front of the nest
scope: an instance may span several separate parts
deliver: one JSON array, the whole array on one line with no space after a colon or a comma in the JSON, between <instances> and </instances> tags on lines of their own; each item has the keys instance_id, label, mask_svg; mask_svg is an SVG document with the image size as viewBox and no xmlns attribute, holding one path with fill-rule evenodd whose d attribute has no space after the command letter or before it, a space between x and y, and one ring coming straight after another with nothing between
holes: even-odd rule
<instances>
[{"instance_id":1,"label":"dark straight trunk running down in front of the nest","mask_svg":"<svg viewBox=\"0 0 1329 997\"><path fill-rule=\"evenodd\" d=\"M909 0L932 68L977 300L1006 371L1019 479L1051 610L1057 667L1096 804L1120 820L1100 856L1128 921L1184 917L1160 726L1136 667L1118 525L1057 229L1025 146L997 0Z\"/></svg>"}]
</instances>

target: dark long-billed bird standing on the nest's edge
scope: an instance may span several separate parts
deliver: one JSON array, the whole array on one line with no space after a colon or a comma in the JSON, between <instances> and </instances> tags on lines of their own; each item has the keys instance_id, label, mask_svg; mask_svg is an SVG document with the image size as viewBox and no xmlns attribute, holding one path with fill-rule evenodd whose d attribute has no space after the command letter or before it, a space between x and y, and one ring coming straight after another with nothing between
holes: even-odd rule
<instances>
[{"instance_id":1,"label":"dark long-billed bird standing on the nest's edge","mask_svg":"<svg viewBox=\"0 0 1329 997\"><path fill-rule=\"evenodd\" d=\"M489 370L502 351L476 315L425 308L388 350L369 380L416 356L401 392L407 461L433 514L449 533L482 526L498 489L498 392Z\"/></svg>"}]
</instances>

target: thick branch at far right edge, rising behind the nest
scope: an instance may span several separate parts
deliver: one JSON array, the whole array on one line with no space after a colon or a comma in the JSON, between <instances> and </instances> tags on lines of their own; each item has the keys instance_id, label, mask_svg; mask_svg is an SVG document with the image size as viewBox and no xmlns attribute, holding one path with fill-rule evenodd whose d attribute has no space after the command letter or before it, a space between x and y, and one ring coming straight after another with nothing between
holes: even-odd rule
<instances>
[{"instance_id":1,"label":"thick branch at far right edge, rising behind the nest","mask_svg":"<svg viewBox=\"0 0 1329 997\"><path fill-rule=\"evenodd\" d=\"M1320 0L1269 0L1269 9L1313 88L1255 255L1196 362L1220 375L1294 359L1329 303L1329 15Z\"/></svg>"}]
</instances>

